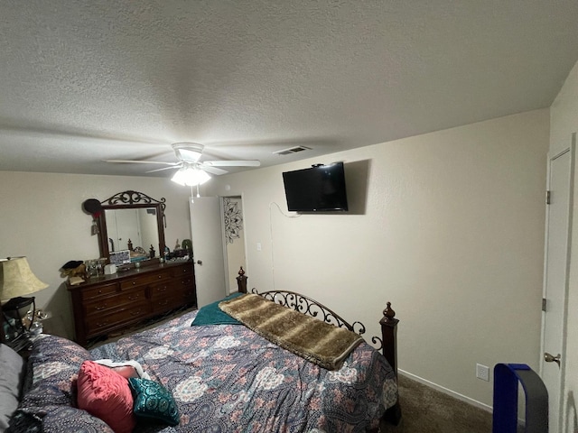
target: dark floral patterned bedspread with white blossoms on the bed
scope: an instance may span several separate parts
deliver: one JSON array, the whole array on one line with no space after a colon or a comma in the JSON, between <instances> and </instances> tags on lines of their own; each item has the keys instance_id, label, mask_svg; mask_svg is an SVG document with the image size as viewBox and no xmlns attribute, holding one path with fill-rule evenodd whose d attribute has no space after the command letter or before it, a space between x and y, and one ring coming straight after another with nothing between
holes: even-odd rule
<instances>
[{"instance_id":1,"label":"dark floral patterned bedspread with white blossoms on the bed","mask_svg":"<svg viewBox=\"0 0 578 433\"><path fill-rule=\"evenodd\" d=\"M75 408L74 381L84 359L138 361L172 392L179 426L139 424L135 431L144 433L357 432L376 428L396 402L394 373L366 343L331 372L241 325L191 327L195 314L90 353L58 337L37 341L33 383L16 419L20 428L36 417L44 432L112 431Z\"/></svg>"}]
</instances>

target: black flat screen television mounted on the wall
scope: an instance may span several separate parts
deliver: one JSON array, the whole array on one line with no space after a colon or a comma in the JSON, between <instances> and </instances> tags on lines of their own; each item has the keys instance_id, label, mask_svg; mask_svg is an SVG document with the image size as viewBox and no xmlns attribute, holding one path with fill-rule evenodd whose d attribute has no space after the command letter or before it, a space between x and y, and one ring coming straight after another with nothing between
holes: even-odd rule
<instances>
[{"instance_id":1,"label":"black flat screen television mounted on the wall","mask_svg":"<svg viewBox=\"0 0 578 433\"><path fill-rule=\"evenodd\" d=\"M346 211L343 162L314 165L309 169L284 171L287 208L294 212Z\"/></svg>"}]
</instances>

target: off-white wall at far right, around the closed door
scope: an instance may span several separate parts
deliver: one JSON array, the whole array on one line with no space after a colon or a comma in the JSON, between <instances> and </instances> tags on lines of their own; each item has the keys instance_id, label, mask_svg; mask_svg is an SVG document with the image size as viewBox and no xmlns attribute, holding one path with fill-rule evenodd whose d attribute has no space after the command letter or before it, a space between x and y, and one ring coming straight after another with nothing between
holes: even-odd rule
<instances>
[{"instance_id":1,"label":"off-white wall at far right, around the closed door","mask_svg":"<svg viewBox=\"0 0 578 433\"><path fill-rule=\"evenodd\" d=\"M571 134L578 132L578 63L574 65L564 87L551 107L550 150L553 154L570 144ZM578 177L574 178L578 180ZM578 187L574 183L572 263L568 297L568 334L566 343L566 375L563 401L564 432L578 431L576 398L578 393Z\"/></svg>"}]
</instances>

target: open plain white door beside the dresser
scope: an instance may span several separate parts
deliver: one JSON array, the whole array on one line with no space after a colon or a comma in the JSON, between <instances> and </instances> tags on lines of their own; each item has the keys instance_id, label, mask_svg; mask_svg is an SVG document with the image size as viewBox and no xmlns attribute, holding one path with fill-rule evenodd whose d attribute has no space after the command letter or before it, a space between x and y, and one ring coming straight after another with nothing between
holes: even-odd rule
<instances>
[{"instance_id":1,"label":"open plain white door beside the dresser","mask_svg":"<svg viewBox=\"0 0 578 433\"><path fill-rule=\"evenodd\" d=\"M200 308L226 296L220 199L195 197L189 203L197 305Z\"/></svg>"}]
</instances>

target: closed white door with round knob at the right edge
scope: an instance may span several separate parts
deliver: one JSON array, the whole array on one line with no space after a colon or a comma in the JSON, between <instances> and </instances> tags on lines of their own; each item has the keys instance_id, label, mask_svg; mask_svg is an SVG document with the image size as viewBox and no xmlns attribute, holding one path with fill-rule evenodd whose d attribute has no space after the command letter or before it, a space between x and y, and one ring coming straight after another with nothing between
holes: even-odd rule
<instances>
[{"instance_id":1,"label":"closed white door with round knob at the right edge","mask_svg":"<svg viewBox=\"0 0 578 433\"><path fill-rule=\"evenodd\" d=\"M549 431L562 428L564 395L564 349L566 298L570 269L570 225L572 223L573 149L551 157L548 164L546 206L544 308L542 314L542 357L540 375L548 390Z\"/></svg>"}]
</instances>

